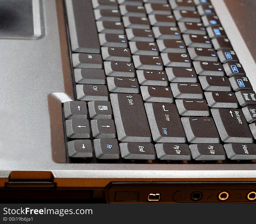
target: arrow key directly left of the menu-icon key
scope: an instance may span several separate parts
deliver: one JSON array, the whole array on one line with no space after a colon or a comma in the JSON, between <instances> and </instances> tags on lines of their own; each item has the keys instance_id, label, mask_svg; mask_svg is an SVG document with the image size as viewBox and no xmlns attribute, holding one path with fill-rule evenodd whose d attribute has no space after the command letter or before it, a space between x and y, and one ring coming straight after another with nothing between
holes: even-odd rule
<instances>
[{"instance_id":1,"label":"arrow key directly left of the menu-icon key","mask_svg":"<svg viewBox=\"0 0 256 224\"><path fill-rule=\"evenodd\" d=\"M87 118L86 102L68 101L63 103L64 114L66 119Z\"/></svg>"}]
</instances>

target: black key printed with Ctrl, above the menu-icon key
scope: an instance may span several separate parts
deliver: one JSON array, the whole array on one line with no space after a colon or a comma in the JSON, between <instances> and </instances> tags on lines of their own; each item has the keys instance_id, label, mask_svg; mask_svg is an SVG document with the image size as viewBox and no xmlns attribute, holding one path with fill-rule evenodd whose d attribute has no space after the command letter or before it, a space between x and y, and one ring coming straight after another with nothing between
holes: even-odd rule
<instances>
[{"instance_id":1,"label":"black key printed with Ctrl, above the menu-icon key","mask_svg":"<svg viewBox=\"0 0 256 224\"><path fill-rule=\"evenodd\" d=\"M105 85L78 84L76 90L79 100L109 100L108 89Z\"/></svg>"}]
</instances>

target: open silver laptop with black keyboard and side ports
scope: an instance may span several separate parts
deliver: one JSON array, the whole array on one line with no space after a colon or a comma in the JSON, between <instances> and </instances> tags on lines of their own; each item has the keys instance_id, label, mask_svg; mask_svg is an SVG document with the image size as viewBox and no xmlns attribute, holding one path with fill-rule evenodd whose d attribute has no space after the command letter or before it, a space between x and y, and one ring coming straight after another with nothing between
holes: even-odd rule
<instances>
[{"instance_id":1,"label":"open silver laptop with black keyboard and side ports","mask_svg":"<svg viewBox=\"0 0 256 224\"><path fill-rule=\"evenodd\" d=\"M255 203L255 1L1 0L1 200Z\"/></svg>"}]
</instances>

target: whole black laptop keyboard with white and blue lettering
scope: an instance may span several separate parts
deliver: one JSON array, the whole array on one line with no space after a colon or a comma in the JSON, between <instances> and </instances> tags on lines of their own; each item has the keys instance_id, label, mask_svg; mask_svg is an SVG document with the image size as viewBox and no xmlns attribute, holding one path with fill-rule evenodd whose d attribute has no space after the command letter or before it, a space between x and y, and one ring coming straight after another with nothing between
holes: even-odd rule
<instances>
[{"instance_id":1,"label":"whole black laptop keyboard with white and blue lettering","mask_svg":"<svg viewBox=\"0 0 256 224\"><path fill-rule=\"evenodd\" d=\"M70 163L255 163L256 98L209 0L66 0Z\"/></svg>"}]
</instances>

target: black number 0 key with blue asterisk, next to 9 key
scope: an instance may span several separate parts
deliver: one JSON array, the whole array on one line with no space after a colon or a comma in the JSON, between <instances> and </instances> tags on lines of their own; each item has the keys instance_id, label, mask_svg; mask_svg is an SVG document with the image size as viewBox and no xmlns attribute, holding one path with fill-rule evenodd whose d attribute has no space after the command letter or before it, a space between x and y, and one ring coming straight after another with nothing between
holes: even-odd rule
<instances>
[{"instance_id":1,"label":"black number 0 key with blue asterisk, next to 9 key","mask_svg":"<svg viewBox=\"0 0 256 224\"><path fill-rule=\"evenodd\" d=\"M195 71L198 75L224 76L224 69L220 62L193 61Z\"/></svg>"}]
</instances>

